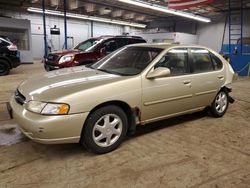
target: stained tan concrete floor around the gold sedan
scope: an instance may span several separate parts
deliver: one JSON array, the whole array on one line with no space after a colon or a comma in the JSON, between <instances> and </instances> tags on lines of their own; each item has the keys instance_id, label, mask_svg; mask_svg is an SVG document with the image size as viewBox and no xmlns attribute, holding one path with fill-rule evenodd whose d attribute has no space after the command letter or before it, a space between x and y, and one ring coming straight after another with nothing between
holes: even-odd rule
<instances>
[{"instance_id":1,"label":"stained tan concrete floor around the gold sedan","mask_svg":"<svg viewBox=\"0 0 250 188\"><path fill-rule=\"evenodd\" d=\"M116 151L94 155L78 144L41 145L8 119L4 102L24 79L22 65L0 77L0 187L250 187L250 79L233 84L223 118L195 113L139 127Z\"/></svg>"}]
</instances>

